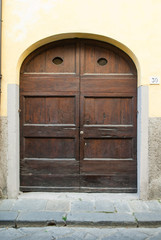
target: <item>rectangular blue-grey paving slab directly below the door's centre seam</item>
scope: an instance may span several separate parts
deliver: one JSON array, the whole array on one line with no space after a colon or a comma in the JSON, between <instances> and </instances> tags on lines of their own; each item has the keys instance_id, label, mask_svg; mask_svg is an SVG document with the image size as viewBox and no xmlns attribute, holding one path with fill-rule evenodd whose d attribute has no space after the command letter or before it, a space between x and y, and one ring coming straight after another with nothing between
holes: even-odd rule
<instances>
[{"instance_id":1,"label":"rectangular blue-grey paving slab directly below the door's centre seam","mask_svg":"<svg viewBox=\"0 0 161 240\"><path fill-rule=\"evenodd\" d=\"M94 210L93 201L74 201L71 203L71 212L92 212Z\"/></svg>"}]
</instances>

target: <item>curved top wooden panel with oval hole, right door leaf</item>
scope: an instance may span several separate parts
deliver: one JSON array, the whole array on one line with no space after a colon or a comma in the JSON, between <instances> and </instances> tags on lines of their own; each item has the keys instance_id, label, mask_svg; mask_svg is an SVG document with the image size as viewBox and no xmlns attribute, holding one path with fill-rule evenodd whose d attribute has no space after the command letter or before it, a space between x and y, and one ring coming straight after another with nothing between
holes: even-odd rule
<instances>
[{"instance_id":1,"label":"curved top wooden panel with oval hole, right door leaf","mask_svg":"<svg viewBox=\"0 0 161 240\"><path fill-rule=\"evenodd\" d=\"M133 72L130 59L123 52L118 54L111 45L87 42L82 42L82 74L131 74Z\"/></svg>"}]
</instances>

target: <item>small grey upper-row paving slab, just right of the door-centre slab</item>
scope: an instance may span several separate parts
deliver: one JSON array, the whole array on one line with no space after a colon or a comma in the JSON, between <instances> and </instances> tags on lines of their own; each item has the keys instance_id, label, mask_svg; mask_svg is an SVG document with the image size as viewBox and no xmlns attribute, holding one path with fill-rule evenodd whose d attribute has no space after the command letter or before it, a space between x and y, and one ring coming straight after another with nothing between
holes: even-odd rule
<instances>
[{"instance_id":1,"label":"small grey upper-row paving slab, just right of the door-centre slab","mask_svg":"<svg viewBox=\"0 0 161 240\"><path fill-rule=\"evenodd\" d=\"M112 213L112 212L115 212L115 209L111 201L97 200L95 201L95 211Z\"/></svg>"}]
</instances>

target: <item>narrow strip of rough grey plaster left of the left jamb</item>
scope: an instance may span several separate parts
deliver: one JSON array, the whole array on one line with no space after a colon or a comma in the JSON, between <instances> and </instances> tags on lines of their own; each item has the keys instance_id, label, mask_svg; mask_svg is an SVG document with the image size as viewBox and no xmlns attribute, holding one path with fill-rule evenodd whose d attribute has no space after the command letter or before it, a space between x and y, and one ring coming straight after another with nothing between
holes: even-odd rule
<instances>
[{"instance_id":1,"label":"narrow strip of rough grey plaster left of the left jamb","mask_svg":"<svg viewBox=\"0 0 161 240\"><path fill-rule=\"evenodd\" d=\"M0 198L7 189L7 117L0 117Z\"/></svg>"}]
</instances>

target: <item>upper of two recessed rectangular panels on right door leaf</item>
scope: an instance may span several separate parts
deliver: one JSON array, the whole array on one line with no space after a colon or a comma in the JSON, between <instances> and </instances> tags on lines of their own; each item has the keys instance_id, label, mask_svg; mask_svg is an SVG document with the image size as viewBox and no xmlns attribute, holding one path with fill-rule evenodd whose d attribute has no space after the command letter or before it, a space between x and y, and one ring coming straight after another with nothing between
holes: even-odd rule
<instances>
[{"instance_id":1,"label":"upper of two recessed rectangular panels on right door leaf","mask_svg":"<svg viewBox=\"0 0 161 240\"><path fill-rule=\"evenodd\" d=\"M132 97L86 97L85 124L132 124Z\"/></svg>"}]
</instances>

